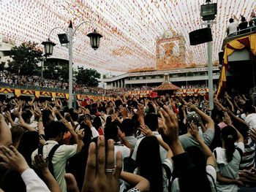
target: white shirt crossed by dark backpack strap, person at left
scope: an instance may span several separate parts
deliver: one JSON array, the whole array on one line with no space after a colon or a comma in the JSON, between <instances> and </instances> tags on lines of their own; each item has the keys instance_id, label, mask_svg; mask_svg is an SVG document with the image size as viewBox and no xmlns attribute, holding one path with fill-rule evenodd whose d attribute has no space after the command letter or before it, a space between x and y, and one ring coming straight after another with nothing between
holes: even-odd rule
<instances>
[{"instance_id":1,"label":"white shirt crossed by dark backpack strap, person at left","mask_svg":"<svg viewBox=\"0 0 256 192\"><path fill-rule=\"evenodd\" d=\"M58 142L53 140L48 140L45 142L45 146L43 147L42 154L43 157L48 157L50 150L53 148L54 145L58 144ZM61 187L61 191L66 192L67 191L67 184L64 179L64 174L66 174L66 164L67 160L75 155L77 151L77 145L61 145L56 150L56 152L53 155L53 172L54 176L59 183L59 186ZM31 155L32 164L34 164L34 156L38 154L38 149L34 150L34 152Z\"/></svg>"}]
</instances>

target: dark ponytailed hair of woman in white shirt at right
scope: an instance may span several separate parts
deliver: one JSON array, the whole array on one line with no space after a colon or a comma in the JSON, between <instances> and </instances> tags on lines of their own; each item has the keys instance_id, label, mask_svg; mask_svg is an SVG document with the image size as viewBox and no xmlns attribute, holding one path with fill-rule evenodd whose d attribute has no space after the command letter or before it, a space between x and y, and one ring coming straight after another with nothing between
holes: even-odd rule
<instances>
[{"instance_id":1,"label":"dark ponytailed hair of woman in white shirt at right","mask_svg":"<svg viewBox=\"0 0 256 192\"><path fill-rule=\"evenodd\" d=\"M235 142L238 139L236 129L231 126L222 128L222 139L225 142L227 162L232 161L233 153L235 152Z\"/></svg>"}]
</instances>

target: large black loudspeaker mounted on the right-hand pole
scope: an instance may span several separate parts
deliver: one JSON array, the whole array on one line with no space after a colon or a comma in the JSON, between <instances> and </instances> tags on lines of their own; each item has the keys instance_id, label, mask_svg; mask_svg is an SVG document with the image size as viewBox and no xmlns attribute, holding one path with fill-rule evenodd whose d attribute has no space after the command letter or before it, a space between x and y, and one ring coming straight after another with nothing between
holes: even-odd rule
<instances>
[{"instance_id":1,"label":"large black loudspeaker mounted on the right-hand pole","mask_svg":"<svg viewBox=\"0 0 256 192\"><path fill-rule=\"evenodd\" d=\"M211 28L200 28L189 33L190 45L199 45L205 42L211 42Z\"/></svg>"}]
</instances>

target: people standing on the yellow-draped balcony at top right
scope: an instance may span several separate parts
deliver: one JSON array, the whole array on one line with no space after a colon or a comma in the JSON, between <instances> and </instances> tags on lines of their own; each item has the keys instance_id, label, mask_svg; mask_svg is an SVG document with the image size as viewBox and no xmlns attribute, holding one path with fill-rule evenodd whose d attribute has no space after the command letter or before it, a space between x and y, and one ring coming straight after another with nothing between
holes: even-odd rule
<instances>
[{"instance_id":1,"label":"people standing on the yellow-draped balcony at top right","mask_svg":"<svg viewBox=\"0 0 256 192\"><path fill-rule=\"evenodd\" d=\"M237 34L246 34L250 32L249 28L252 28L252 31L256 30L255 12L251 12L249 22L246 21L246 18L244 18L243 15L241 15L241 22L238 22L239 20L236 15L233 15L233 18L230 18L229 23L227 24L227 37L233 37Z\"/></svg>"}]
</instances>

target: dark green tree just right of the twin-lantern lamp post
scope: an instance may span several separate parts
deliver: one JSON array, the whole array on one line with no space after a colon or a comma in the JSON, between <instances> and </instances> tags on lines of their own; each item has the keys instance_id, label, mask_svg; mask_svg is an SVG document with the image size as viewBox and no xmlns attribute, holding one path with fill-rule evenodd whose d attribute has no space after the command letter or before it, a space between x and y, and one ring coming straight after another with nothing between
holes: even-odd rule
<instances>
[{"instance_id":1,"label":"dark green tree just right of the twin-lantern lamp post","mask_svg":"<svg viewBox=\"0 0 256 192\"><path fill-rule=\"evenodd\" d=\"M99 85L100 74L95 69L83 69L78 68L76 74L76 83L80 85L86 85L88 87L97 87Z\"/></svg>"}]
</instances>

